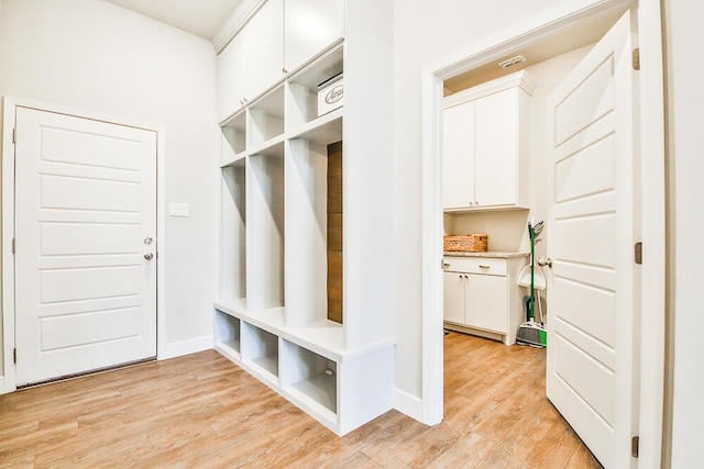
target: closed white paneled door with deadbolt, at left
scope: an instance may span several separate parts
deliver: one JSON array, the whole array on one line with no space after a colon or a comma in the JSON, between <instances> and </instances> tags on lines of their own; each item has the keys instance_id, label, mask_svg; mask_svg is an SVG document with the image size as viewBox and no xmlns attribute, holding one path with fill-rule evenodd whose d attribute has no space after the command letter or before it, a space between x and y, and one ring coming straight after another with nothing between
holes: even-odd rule
<instances>
[{"instance_id":1,"label":"closed white paneled door with deadbolt, at left","mask_svg":"<svg viewBox=\"0 0 704 469\"><path fill-rule=\"evenodd\" d=\"M18 386L156 356L156 133L15 125Z\"/></svg>"}]
</instances>

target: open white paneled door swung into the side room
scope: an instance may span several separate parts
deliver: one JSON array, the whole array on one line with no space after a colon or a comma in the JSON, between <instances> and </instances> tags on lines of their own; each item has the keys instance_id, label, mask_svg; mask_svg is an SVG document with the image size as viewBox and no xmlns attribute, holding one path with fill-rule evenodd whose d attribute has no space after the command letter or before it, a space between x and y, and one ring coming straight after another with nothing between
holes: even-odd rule
<instances>
[{"instance_id":1,"label":"open white paneled door swung into the side room","mask_svg":"<svg viewBox=\"0 0 704 469\"><path fill-rule=\"evenodd\" d=\"M605 467L637 428L635 40L627 12L554 91L547 394Z\"/></svg>"}]
</instances>

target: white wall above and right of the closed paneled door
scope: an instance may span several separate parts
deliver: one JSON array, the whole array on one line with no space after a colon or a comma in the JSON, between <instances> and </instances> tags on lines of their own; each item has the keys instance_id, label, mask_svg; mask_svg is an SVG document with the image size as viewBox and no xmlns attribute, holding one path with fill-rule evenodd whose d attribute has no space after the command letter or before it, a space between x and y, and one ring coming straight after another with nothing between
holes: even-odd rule
<instances>
[{"instance_id":1,"label":"white wall above and right of the closed paneled door","mask_svg":"<svg viewBox=\"0 0 704 469\"><path fill-rule=\"evenodd\" d=\"M208 41L97 0L2 0L0 96L162 126L163 355L209 346L217 289L216 57ZM162 213L165 205L158 208Z\"/></svg>"}]
</instances>

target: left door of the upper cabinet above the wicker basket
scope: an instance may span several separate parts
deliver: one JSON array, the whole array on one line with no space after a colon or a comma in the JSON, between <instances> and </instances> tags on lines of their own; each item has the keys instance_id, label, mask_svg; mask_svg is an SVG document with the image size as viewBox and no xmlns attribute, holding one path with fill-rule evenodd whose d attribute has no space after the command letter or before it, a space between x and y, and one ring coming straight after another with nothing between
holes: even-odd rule
<instances>
[{"instance_id":1,"label":"left door of the upper cabinet above the wicker basket","mask_svg":"<svg viewBox=\"0 0 704 469\"><path fill-rule=\"evenodd\" d=\"M443 112L443 206L458 209L474 203L474 102Z\"/></svg>"}]
</instances>

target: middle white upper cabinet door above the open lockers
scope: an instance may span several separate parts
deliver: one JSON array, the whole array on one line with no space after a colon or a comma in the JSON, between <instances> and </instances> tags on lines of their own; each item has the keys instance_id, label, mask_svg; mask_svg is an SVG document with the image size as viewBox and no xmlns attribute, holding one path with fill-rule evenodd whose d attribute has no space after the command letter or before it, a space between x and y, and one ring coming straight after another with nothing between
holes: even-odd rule
<instances>
[{"instance_id":1,"label":"middle white upper cabinet door above the open lockers","mask_svg":"<svg viewBox=\"0 0 704 469\"><path fill-rule=\"evenodd\" d=\"M283 0L267 0L238 37L244 70L242 97L252 101L284 76Z\"/></svg>"}]
</instances>

